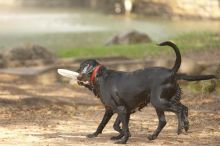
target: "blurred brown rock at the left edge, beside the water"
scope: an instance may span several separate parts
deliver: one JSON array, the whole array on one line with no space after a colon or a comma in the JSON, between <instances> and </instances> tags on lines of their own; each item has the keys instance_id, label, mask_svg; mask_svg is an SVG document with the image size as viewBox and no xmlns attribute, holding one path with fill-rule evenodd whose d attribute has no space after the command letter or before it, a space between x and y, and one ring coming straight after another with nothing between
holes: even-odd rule
<instances>
[{"instance_id":1,"label":"blurred brown rock at the left edge, beside the water","mask_svg":"<svg viewBox=\"0 0 220 146\"><path fill-rule=\"evenodd\" d=\"M54 54L39 45L26 45L8 49L1 55L2 67L39 66L52 64Z\"/></svg>"}]
</instances>

